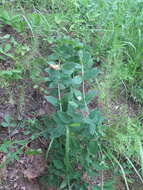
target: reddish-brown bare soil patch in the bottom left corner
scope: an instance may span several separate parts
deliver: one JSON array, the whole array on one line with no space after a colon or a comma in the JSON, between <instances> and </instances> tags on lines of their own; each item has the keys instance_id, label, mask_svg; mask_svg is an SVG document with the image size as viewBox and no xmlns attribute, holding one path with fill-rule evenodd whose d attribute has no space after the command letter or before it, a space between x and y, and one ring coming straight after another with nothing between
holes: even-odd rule
<instances>
[{"instance_id":1,"label":"reddish-brown bare soil patch in the bottom left corner","mask_svg":"<svg viewBox=\"0 0 143 190\"><path fill-rule=\"evenodd\" d=\"M36 142L31 143L35 149ZM37 142L38 147L41 143ZM15 150L11 148L11 153ZM1 153L2 154L2 153ZM44 153L37 155L21 154L18 161L7 163L7 155L1 155L0 189L40 190L38 177L46 170Z\"/></svg>"}]
</instances>

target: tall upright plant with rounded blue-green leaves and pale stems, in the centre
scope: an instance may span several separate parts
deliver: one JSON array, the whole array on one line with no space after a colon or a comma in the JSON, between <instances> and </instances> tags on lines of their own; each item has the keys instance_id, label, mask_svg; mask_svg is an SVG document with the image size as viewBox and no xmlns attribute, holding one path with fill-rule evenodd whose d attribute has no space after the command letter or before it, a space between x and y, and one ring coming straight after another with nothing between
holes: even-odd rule
<instances>
[{"instance_id":1,"label":"tall upright plant with rounded blue-green leaves and pale stems, in the centre","mask_svg":"<svg viewBox=\"0 0 143 190\"><path fill-rule=\"evenodd\" d=\"M76 159L71 161L74 155L74 152L71 153L71 142L75 137L84 143L85 138L91 140L102 136L104 117L97 108L90 110L88 107L97 95L92 82L99 73L93 65L88 47L78 40L64 37L55 40L55 47L52 50L45 69L48 75L45 77L45 84L50 89L49 96L45 96L45 99L56 111L50 116L53 124L49 127L47 123L46 133L51 139L65 137L64 165L67 172L66 178L61 181L62 188L70 186L70 180L75 179L72 167ZM89 87L86 87L86 84ZM82 146L78 147L79 152L82 152L82 149ZM75 148L72 151L75 151ZM55 163L57 161L54 161L54 166Z\"/></svg>"}]
</instances>

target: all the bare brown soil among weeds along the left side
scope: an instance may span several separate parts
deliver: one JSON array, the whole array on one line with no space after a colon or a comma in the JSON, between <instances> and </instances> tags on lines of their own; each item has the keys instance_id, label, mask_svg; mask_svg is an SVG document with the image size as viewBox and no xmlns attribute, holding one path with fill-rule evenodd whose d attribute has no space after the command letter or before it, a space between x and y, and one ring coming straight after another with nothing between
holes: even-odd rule
<instances>
[{"instance_id":1,"label":"all the bare brown soil among weeds along the left side","mask_svg":"<svg viewBox=\"0 0 143 190\"><path fill-rule=\"evenodd\" d=\"M0 37L6 34L13 36L17 42L24 43L22 36L9 25L3 25L0 28ZM0 60L0 70L11 70L14 66L15 62L11 58L5 57L5 60ZM17 161L8 163L8 154L0 152L1 190L40 190L38 178L46 171L47 141L41 137L31 141L30 136L25 135L23 129L19 127L9 134L11 126L7 128L1 126L6 115L11 116L12 121L19 123L53 112L52 105L44 99L44 95L39 90L33 88L33 83L28 78L23 76L23 79L11 82L10 86L0 87L0 144L3 144L6 139L11 142L17 140L30 142L23 147ZM9 151L13 154L17 149L18 145L17 148L10 147ZM36 155L27 155L26 151L31 149L41 150L41 152Z\"/></svg>"}]
</instances>

